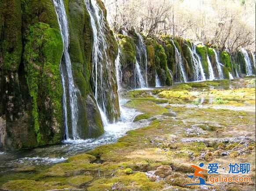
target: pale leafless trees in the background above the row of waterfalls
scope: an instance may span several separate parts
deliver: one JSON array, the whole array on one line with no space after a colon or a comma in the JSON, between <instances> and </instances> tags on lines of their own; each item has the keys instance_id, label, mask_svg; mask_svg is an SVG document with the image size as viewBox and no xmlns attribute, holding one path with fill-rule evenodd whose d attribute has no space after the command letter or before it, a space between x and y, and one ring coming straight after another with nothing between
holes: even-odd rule
<instances>
[{"instance_id":1,"label":"pale leafless trees in the background above the row of waterfalls","mask_svg":"<svg viewBox=\"0 0 256 191\"><path fill-rule=\"evenodd\" d=\"M168 34L203 41L221 49L255 50L255 0L108 0L116 32Z\"/></svg>"}]
</instances>

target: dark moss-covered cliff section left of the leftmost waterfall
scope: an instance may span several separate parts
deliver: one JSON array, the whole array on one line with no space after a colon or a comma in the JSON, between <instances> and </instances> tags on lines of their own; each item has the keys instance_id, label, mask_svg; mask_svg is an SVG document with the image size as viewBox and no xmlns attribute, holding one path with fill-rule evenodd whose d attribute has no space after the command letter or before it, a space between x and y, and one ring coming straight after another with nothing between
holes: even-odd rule
<instances>
[{"instance_id":1,"label":"dark moss-covered cliff section left of the leftmost waterfall","mask_svg":"<svg viewBox=\"0 0 256 191\"><path fill-rule=\"evenodd\" d=\"M4 0L0 15L0 147L58 143L63 43L53 3Z\"/></svg>"}]
</instances>

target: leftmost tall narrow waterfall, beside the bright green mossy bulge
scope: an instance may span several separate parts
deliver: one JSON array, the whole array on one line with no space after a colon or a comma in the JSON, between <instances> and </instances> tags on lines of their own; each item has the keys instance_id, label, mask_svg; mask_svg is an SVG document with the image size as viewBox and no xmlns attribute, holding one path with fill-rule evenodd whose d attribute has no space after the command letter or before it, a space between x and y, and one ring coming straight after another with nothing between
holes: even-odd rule
<instances>
[{"instance_id":1,"label":"leftmost tall narrow waterfall, beside the bright green mossy bulge","mask_svg":"<svg viewBox=\"0 0 256 191\"><path fill-rule=\"evenodd\" d=\"M78 119L78 107L77 107L77 94L79 90L74 85L71 60L69 57L69 27L66 16L66 10L64 7L63 0L53 0L55 11L58 17L59 28L61 30L62 41L64 43L62 63L60 65L62 88L63 88L63 114L64 114L64 126L66 139L77 139L79 134L77 132L77 119ZM68 86L66 86L66 83ZM67 113L67 99L69 99L69 108L71 120L72 134L69 133L68 128L68 113Z\"/></svg>"}]
</instances>

